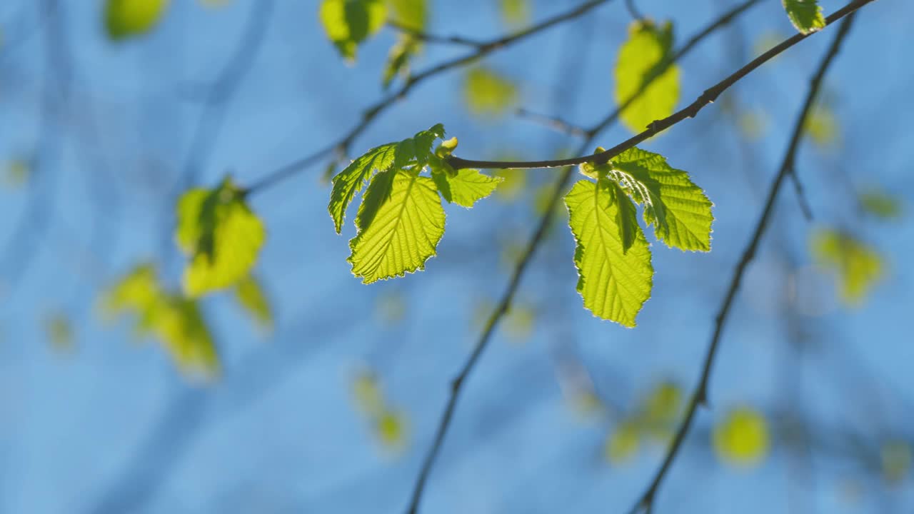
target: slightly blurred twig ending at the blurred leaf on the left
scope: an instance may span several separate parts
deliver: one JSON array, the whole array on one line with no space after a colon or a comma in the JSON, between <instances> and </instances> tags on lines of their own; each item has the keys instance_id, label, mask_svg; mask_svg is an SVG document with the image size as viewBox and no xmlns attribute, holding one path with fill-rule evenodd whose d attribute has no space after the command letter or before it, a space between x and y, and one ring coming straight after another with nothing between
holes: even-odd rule
<instances>
[{"instance_id":1,"label":"slightly blurred twig ending at the blurred leaf on the left","mask_svg":"<svg viewBox=\"0 0 914 514\"><path fill-rule=\"evenodd\" d=\"M358 137L362 132L367 129L368 125L377 118L377 115L381 112L388 110L395 102L406 98L409 94L409 91L412 91L412 88L420 84L420 82L430 79L439 73L442 73L447 70L452 70L454 68L460 68L471 62L483 58L484 56L498 50L500 48L505 48L509 45L513 45L521 40L526 39L527 37L534 36L549 27L556 26L562 22L569 21L579 16L583 16L590 12L591 9L599 5L610 2L611 0L590 0L590 2L585 2L584 4L578 5L577 7L566 11L565 13L559 14L548 18L537 25L528 27L525 30L516 32L510 36L498 37L483 43L481 46L476 48L470 54L464 55L463 57L446 60L431 67L428 70L422 71L416 75L412 75L406 82L400 87L398 91L393 92L388 95L387 98L380 100L371 107L368 107L365 112L362 113L362 120L359 123L356 123L356 126L352 128L347 134L342 138L336 141L333 145L329 145L329 149L324 149L321 152L317 152L314 155L311 155L304 159L299 159L296 162L290 163L285 166L281 166L278 169L271 171L270 173L265 174L264 177L256 181L254 184L247 187L249 193L254 193L272 187L278 182L282 181L285 178L292 177L292 175L302 171L308 166L312 166L319 160L317 155L329 155L331 152L336 151L340 155L345 155L348 153L349 145Z\"/></svg>"}]
</instances>

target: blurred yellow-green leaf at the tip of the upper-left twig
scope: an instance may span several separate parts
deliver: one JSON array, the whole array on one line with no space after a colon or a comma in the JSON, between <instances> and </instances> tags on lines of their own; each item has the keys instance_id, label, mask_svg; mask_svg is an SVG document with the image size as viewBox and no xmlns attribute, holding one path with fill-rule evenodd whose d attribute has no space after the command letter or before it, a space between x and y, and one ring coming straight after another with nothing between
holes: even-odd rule
<instances>
[{"instance_id":1,"label":"blurred yellow-green leaf at the tip of the upper-left twig","mask_svg":"<svg viewBox=\"0 0 914 514\"><path fill-rule=\"evenodd\" d=\"M178 201L177 218L177 243L190 258L184 288L192 297L247 276L266 240L263 222L230 177L211 190L187 191Z\"/></svg>"}]
</instances>

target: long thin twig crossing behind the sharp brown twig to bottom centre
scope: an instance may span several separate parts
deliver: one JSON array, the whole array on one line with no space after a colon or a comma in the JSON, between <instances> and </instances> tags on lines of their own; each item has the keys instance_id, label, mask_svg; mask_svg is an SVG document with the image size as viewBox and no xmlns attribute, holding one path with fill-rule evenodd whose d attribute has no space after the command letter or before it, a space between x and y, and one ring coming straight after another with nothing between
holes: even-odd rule
<instances>
[{"instance_id":1,"label":"long thin twig crossing behind the sharp brown twig to bottom centre","mask_svg":"<svg viewBox=\"0 0 914 514\"><path fill-rule=\"evenodd\" d=\"M739 14L739 12L742 12L743 10L745 10L749 5L752 5L752 4L756 3L757 1L758 0L750 0L746 4L739 6L738 14ZM702 38L707 37L708 35L713 33L715 30L717 30L717 28L726 26L727 23L730 20L732 20L734 17L735 17L735 15L732 12L730 12L730 13L725 13L724 16L721 16L720 18L715 20L706 29L702 30L699 33L699 35L701 37L693 37L685 44L685 46L683 48L681 48L679 51L675 52L675 54L674 54L675 59L680 59L683 56L685 56L685 54L689 50L696 47L696 44L698 41L700 41ZM725 20L725 21L721 21L721 20ZM656 76L649 77L648 80L646 80L645 86L647 84L649 84L651 80L654 80L654 79L656 79ZM644 88L642 88L640 91L635 92L635 94L632 95L632 99L630 99L629 102L631 102L638 95L642 94L643 91L644 91ZM628 103L628 102L626 102L626 103ZM619 109L617 109L614 112L615 115L614 116L611 115L611 118L612 119L617 118L618 113L623 108L624 108L624 106L621 106ZM611 123L611 122L609 122L609 123ZM600 123L599 125L595 126L594 128L590 129L589 131L587 131L587 135L585 137L584 142L580 146L579 152L583 152L584 150L589 148L590 145L593 143L593 140L600 133L600 131L602 131L609 123ZM451 425L451 419L453 416L453 412L455 411L455 409L457 407L457 401L460 398L460 394L462 391L462 385L463 385L464 381L466 380L466 378L469 376L470 372L473 371L473 368L476 366L476 362L479 360L480 356L483 354L484 349L488 346L489 340L492 338L492 334L494 333L494 328L498 325L498 322L501 320L501 318L503 316L505 316L505 313L507 313L508 309L510 308L511 302L514 299L514 295L517 292L517 288L520 285L520 279L523 276L524 272L526 271L527 265L533 259L533 255L537 251L537 248L539 247L539 243L543 240L543 237L546 234L549 225L552 223L552 217L556 211L556 206L558 205L558 201L561 198L562 193L565 190L565 187L569 183L569 180L571 179L572 174L574 173L574 169L575 168L573 166L566 166L565 169L563 170L561 176L556 181L556 186L552 192L552 196L549 198L549 203L547 205L545 214L539 220L539 223L537 224L537 230L534 231L533 237L527 243L524 253L522 254L520 260L517 262L517 267L515 268L514 273L512 273L511 279L508 281L508 285L505 288L505 293L502 294L501 300L499 301L498 305L495 306L494 311L492 312L492 315L489 316L489 319L486 321L483 333L479 337L479 340L476 342L476 345L473 347L473 352L470 354L470 357L463 364L463 367L461 368L460 372L457 374L457 377L452 381L451 396L448 399L447 405L444 408L444 413L441 415L441 420L438 423L438 429L435 432L435 437L432 441L432 444L429 448L428 453L425 455L425 459L422 462L420 474L416 480L416 485L413 489L413 493L412 493L412 497L410 499L409 509L408 509L409 514L416 514L416 512L418 512L419 503L420 503L422 493L425 488L425 484L429 479L431 468L432 468L432 466L434 466L435 459L437 458L438 453L441 451L441 445L444 443L444 437L447 434L448 428Z\"/></svg>"}]
</instances>

